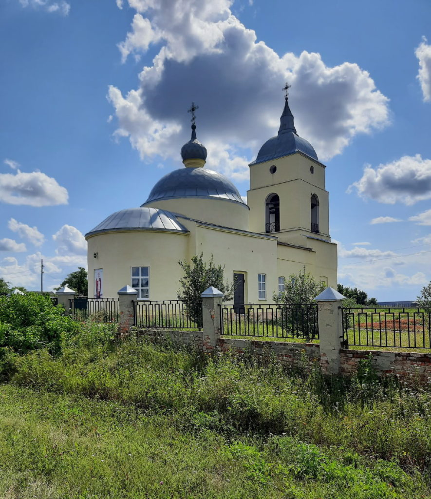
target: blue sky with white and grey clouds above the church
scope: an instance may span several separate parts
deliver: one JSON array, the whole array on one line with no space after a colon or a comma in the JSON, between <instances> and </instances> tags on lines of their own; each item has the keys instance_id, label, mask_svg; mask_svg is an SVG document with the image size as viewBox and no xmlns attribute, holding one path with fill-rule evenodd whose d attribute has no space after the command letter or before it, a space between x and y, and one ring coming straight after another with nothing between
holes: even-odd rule
<instances>
[{"instance_id":1,"label":"blue sky with white and grey clouds above the church","mask_svg":"<svg viewBox=\"0 0 431 499\"><path fill-rule=\"evenodd\" d=\"M5 0L0 276L39 289L83 234L182 167L195 100L207 166L241 195L278 129L327 165L339 282L379 300L431 280L431 3ZM430 41L428 41L430 40Z\"/></svg>"}]
</instances>

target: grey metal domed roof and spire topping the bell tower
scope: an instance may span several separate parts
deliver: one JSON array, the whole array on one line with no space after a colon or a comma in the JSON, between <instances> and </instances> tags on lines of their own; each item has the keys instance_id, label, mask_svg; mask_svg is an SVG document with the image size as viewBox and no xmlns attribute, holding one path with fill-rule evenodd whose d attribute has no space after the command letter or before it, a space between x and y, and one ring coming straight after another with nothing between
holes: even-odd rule
<instances>
[{"instance_id":1,"label":"grey metal domed roof and spire topping the bell tower","mask_svg":"<svg viewBox=\"0 0 431 499\"><path fill-rule=\"evenodd\" d=\"M275 137L267 140L257 153L256 159L250 165L256 165L271 159L281 158L289 154L301 152L312 159L318 161L316 151L313 146L296 133L293 124L293 114L290 111L289 103L285 100L283 114L280 117L280 128Z\"/></svg>"}]
</instances>

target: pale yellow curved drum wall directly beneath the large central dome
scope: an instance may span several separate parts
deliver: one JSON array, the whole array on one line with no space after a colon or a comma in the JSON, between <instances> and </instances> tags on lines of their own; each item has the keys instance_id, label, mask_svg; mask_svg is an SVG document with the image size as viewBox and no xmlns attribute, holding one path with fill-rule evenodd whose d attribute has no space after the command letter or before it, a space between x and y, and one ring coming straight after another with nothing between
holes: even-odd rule
<instances>
[{"instance_id":1,"label":"pale yellow curved drum wall directly beneath the large central dome","mask_svg":"<svg viewBox=\"0 0 431 499\"><path fill-rule=\"evenodd\" d=\"M152 201L148 206L181 213L210 224L248 231L248 206L237 202L193 197Z\"/></svg>"}]
</instances>

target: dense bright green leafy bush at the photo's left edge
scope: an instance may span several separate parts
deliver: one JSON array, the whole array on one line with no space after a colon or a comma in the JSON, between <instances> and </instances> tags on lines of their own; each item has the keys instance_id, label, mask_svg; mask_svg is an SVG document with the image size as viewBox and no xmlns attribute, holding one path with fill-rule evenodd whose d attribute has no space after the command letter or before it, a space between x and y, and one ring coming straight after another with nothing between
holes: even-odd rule
<instances>
[{"instance_id":1,"label":"dense bright green leafy bush at the photo's left edge","mask_svg":"<svg viewBox=\"0 0 431 499\"><path fill-rule=\"evenodd\" d=\"M47 348L58 354L61 342L76 334L78 327L49 296L29 293L0 297L0 347L20 354Z\"/></svg>"}]
</instances>

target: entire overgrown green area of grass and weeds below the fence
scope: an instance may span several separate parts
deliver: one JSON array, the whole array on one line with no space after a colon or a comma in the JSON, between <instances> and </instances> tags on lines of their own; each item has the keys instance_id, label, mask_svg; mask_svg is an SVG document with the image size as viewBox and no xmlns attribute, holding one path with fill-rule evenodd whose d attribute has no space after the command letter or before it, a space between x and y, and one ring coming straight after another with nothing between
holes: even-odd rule
<instances>
[{"instance_id":1,"label":"entire overgrown green area of grass and weeds below the fence","mask_svg":"<svg viewBox=\"0 0 431 499\"><path fill-rule=\"evenodd\" d=\"M423 499L431 392L318 365L116 343L84 324L60 355L3 350L0 497Z\"/></svg>"}]
</instances>

